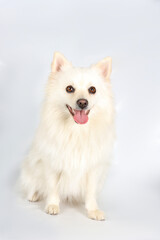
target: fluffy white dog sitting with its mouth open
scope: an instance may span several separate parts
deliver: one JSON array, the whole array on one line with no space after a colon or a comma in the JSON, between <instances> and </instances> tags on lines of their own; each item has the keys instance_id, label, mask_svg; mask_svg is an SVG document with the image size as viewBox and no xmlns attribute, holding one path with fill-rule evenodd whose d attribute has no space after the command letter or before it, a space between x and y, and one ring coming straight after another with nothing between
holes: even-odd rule
<instances>
[{"instance_id":1,"label":"fluffy white dog sitting with its mouth open","mask_svg":"<svg viewBox=\"0 0 160 240\"><path fill-rule=\"evenodd\" d=\"M55 53L38 130L24 161L21 186L29 201L46 200L59 213L60 200L84 202L88 217L104 220L96 197L115 138L110 84L111 58L76 68Z\"/></svg>"}]
</instances>

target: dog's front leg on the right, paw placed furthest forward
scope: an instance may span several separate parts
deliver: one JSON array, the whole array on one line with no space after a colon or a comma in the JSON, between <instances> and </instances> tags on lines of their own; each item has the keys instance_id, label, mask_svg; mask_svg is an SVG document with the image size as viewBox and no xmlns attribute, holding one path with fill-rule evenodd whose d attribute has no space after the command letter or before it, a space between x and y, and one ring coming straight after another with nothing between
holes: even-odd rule
<instances>
[{"instance_id":1,"label":"dog's front leg on the right, paw placed furthest forward","mask_svg":"<svg viewBox=\"0 0 160 240\"><path fill-rule=\"evenodd\" d=\"M85 207L88 217L94 220L105 220L104 213L99 210L96 192L98 184L98 173L96 170L90 171L87 174L86 199Z\"/></svg>"}]
</instances>

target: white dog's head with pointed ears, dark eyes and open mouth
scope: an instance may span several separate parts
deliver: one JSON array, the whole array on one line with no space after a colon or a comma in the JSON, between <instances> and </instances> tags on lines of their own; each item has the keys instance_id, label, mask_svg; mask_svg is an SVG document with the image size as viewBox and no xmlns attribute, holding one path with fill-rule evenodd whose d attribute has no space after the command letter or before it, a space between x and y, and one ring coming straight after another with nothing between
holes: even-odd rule
<instances>
[{"instance_id":1,"label":"white dog's head with pointed ears, dark eyes and open mouth","mask_svg":"<svg viewBox=\"0 0 160 240\"><path fill-rule=\"evenodd\" d=\"M55 114L78 124L87 123L92 116L102 118L110 105L110 73L110 57L90 68L75 68L55 53L47 86Z\"/></svg>"}]
</instances>

